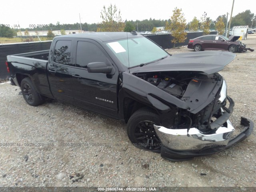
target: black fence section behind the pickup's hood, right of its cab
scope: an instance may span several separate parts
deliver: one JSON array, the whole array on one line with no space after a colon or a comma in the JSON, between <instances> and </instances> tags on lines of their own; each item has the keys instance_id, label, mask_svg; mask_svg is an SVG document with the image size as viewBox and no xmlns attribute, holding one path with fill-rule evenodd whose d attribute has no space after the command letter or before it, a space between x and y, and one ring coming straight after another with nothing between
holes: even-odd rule
<instances>
[{"instance_id":1,"label":"black fence section behind the pickup's hood, right of its cab","mask_svg":"<svg viewBox=\"0 0 256 192\"><path fill-rule=\"evenodd\" d=\"M210 34L214 35L214 34L217 34L217 32L212 31L212 32L210 32ZM202 35L203 35L203 32L188 33L187 39L185 40L185 42L176 43L175 46L180 47L180 46L188 45L188 41L190 39L194 39L194 38L200 37ZM147 38L154 41L156 44L161 46L163 49L173 48L173 43L171 42L171 40L173 39L173 36L171 34L157 34L157 35L144 35L144 36L146 36Z\"/></svg>"}]
</instances>

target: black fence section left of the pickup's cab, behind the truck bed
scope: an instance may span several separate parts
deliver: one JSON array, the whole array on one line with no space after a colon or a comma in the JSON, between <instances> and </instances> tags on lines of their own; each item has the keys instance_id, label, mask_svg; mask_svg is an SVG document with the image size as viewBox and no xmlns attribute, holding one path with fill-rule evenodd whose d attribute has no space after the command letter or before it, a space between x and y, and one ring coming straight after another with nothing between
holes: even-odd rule
<instances>
[{"instance_id":1,"label":"black fence section left of the pickup's cab, behind the truck bed","mask_svg":"<svg viewBox=\"0 0 256 192\"><path fill-rule=\"evenodd\" d=\"M30 42L20 44L0 44L0 79L9 77L5 61L7 55L49 50L52 42Z\"/></svg>"}]
</instances>

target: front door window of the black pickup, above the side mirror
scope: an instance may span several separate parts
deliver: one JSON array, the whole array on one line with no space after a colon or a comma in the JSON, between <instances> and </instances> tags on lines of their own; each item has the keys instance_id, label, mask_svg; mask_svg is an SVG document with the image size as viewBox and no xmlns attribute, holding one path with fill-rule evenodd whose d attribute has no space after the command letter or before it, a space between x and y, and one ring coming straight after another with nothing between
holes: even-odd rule
<instances>
[{"instance_id":1,"label":"front door window of the black pickup, above the side mirror","mask_svg":"<svg viewBox=\"0 0 256 192\"><path fill-rule=\"evenodd\" d=\"M87 68L91 62L107 62L104 53L93 43L78 41L76 48L76 66Z\"/></svg>"}]
</instances>

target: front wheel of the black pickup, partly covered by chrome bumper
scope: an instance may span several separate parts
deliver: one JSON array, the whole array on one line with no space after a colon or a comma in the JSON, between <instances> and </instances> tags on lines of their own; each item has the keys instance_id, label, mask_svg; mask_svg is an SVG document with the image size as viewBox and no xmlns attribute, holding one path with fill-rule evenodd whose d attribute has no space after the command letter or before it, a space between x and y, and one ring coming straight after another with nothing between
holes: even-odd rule
<instances>
[{"instance_id":1,"label":"front wheel of the black pickup, partly covered by chrome bumper","mask_svg":"<svg viewBox=\"0 0 256 192\"><path fill-rule=\"evenodd\" d=\"M134 146L152 152L160 152L161 143L154 130L160 125L158 114L148 108L134 112L127 123L127 134Z\"/></svg>"}]
</instances>

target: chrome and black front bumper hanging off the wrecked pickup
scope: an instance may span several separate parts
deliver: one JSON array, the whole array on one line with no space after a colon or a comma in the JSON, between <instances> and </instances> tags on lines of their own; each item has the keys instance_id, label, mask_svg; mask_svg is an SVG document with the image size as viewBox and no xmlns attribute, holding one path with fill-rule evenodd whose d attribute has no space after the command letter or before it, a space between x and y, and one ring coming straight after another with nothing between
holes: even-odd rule
<instances>
[{"instance_id":1,"label":"chrome and black front bumper hanging off the wrecked pickup","mask_svg":"<svg viewBox=\"0 0 256 192\"><path fill-rule=\"evenodd\" d=\"M253 122L241 117L241 125L244 130L235 138L231 139L234 127L228 120L234 102L226 96L230 102L228 109L222 109L224 114L210 124L212 130L207 133L200 132L197 128L170 129L154 125L162 146L161 156L169 160L187 160L197 156L214 154L230 148L247 138L253 130Z\"/></svg>"}]
</instances>

